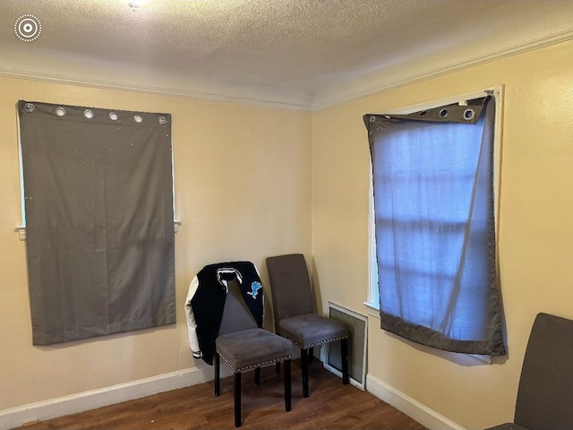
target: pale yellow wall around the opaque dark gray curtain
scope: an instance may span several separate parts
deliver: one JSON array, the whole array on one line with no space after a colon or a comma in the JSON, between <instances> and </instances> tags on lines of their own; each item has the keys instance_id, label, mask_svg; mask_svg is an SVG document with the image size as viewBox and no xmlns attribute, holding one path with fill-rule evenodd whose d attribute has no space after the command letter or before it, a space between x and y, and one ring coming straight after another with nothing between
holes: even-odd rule
<instances>
[{"instance_id":1,"label":"pale yellow wall around the opaque dark gray curtain","mask_svg":"<svg viewBox=\"0 0 573 430\"><path fill-rule=\"evenodd\" d=\"M193 366L184 319L189 282L210 262L311 252L311 114L114 90L0 79L0 411ZM158 330L31 345L21 222L18 99L173 115L177 323Z\"/></svg>"}]
</instances>

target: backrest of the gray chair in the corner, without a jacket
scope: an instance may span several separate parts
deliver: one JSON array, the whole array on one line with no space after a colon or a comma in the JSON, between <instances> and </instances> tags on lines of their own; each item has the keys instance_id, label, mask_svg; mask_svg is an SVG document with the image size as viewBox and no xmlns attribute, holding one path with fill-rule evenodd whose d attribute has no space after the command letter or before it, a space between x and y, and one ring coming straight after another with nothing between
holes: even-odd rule
<instances>
[{"instance_id":1,"label":"backrest of the gray chair in the corner, without a jacket","mask_svg":"<svg viewBox=\"0 0 573 430\"><path fill-rule=\"evenodd\" d=\"M303 254L267 258L275 324L291 316L312 314L311 281Z\"/></svg>"}]
</instances>

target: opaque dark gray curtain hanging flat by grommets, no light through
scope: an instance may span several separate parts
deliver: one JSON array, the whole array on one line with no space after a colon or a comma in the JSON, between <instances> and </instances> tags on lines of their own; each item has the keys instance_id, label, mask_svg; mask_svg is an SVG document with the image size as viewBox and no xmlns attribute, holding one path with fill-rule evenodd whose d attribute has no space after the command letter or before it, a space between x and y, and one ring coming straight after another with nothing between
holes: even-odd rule
<instances>
[{"instance_id":1,"label":"opaque dark gray curtain hanging flat by grommets, no light through","mask_svg":"<svg viewBox=\"0 0 573 430\"><path fill-rule=\"evenodd\" d=\"M175 323L171 116L18 113L34 345Z\"/></svg>"}]
</instances>

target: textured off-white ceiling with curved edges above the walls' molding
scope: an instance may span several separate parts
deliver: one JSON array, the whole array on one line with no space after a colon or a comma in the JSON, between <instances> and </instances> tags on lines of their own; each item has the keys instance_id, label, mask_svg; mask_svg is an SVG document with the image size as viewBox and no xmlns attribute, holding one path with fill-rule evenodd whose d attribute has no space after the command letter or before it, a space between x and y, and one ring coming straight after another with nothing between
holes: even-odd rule
<instances>
[{"instance_id":1,"label":"textured off-white ceiling with curved edges above the walls' molding","mask_svg":"<svg viewBox=\"0 0 573 430\"><path fill-rule=\"evenodd\" d=\"M571 0L0 0L0 75L300 108L566 39Z\"/></svg>"}]
</instances>

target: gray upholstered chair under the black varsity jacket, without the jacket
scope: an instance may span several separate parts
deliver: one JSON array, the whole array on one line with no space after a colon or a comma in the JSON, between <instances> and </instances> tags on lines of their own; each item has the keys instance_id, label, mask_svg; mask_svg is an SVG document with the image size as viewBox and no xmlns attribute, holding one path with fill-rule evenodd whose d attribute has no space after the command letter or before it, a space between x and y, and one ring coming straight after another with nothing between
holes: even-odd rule
<instances>
[{"instance_id":1,"label":"gray upholstered chair under the black varsity jacket, without the jacket","mask_svg":"<svg viewBox=\"0 0 573 430\"><path fill-rule=\"evenodd\" d=\"M215 396L221 391L220 359L227 362L234 373L235 426L241 426L241 374L255 370L255 385L261 383L261 366L284 362L285 409L291 409L290 360L293 345L286 339L261 329L244 303L236 280L227 282L227 298L215 340Z\"/></svg>"}]
</instances>

